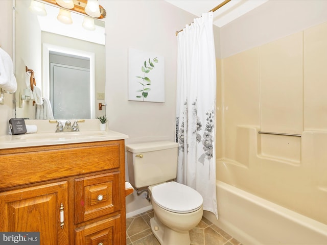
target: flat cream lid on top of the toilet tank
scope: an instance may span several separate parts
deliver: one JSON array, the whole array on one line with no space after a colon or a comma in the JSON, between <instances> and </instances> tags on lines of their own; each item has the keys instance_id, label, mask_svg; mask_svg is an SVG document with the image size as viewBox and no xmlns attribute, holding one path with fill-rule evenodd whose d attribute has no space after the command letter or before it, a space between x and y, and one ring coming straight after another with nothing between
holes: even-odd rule
<instances>
[{"instance_id":1,"label":"flat cream lid on top of the toilet tank","mask_svg":"<svg viewBox=\"0 0 327 245\"><path fill-rule=\"evenodd\" d=\"M165 150L170 148L177 148L178 143L172 141L154 141L136 144L127 144L126 150L132 153L152 152L158 150Z\"/></svg>"}]
</instances>

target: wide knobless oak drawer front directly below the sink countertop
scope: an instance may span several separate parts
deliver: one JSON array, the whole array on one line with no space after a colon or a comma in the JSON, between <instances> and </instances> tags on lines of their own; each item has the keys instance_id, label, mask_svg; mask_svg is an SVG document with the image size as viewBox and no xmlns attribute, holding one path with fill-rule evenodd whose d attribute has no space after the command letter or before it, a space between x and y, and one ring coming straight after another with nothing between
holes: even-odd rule
<instances>
[{"instance_id":1,"label":"wide knobless oak drawer front directly below the sink countertop","mask_svg":"<svg viewBox=\"0 0 327 245\"><path fill-rule=\"evenodd\" d=\"M0 149L2 162L9 163L0 162L0 189L119 168L120 148L120 141L103 141Z\"/></svg>"}]
</instances>

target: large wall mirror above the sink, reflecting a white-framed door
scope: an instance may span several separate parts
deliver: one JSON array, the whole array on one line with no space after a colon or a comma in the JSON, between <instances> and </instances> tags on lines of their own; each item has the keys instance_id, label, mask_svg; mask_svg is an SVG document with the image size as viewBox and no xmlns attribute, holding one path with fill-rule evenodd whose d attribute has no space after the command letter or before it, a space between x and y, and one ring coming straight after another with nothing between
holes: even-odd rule
<instances>
[{"instance_id":1,"label":"large wall mirror above the sink, reflecting a white-framed door","mask_svg":"<svg viewBox=\"0 0 327 245\"><path fill-rule=\"evenodd\" d=\"M50 119L49 104L55 119L105 114L97 106L105 103L105 22L94 19L90 31L82 14L71 12L73 24L64 24L58 6L44 3L47 14L38 16L30 4L15 1L15 117Z\"/></svg>"}]
</instances>

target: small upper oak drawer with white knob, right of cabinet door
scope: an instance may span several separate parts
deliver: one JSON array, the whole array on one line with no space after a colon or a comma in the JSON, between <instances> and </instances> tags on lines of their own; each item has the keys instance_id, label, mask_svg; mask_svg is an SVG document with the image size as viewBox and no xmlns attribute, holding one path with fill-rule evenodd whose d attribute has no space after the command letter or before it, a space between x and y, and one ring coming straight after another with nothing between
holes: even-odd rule
<instances>
[{"instance_id":1,"label":"small upper oak drawer with white knob, right of cabinet door","mask_svg":"<svg viewBox=\"0 0 327 245\"><path fill-rule=\"evenodd\" d=\"M119 171L75 179L75 223L120 210Z\"/></svg>"}]
</instances>

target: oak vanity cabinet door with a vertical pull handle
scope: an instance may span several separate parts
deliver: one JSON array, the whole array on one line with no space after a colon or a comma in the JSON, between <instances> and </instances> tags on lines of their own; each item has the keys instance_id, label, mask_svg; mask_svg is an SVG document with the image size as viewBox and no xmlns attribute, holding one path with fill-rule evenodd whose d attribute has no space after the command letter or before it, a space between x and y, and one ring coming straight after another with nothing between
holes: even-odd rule
<instances>
[{"instance_id":1,"label":"oak vanity cabinet door with a vertical pull handle","mask_svg":"<svg viewBox=\"0 0 327 245\"><path fill-rule=\"evenodd\" d=\"M40 232L41 245L69 244L67 185L61 181L1 192L0 231Z\"/></svg>"}]
</instances>

